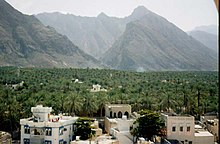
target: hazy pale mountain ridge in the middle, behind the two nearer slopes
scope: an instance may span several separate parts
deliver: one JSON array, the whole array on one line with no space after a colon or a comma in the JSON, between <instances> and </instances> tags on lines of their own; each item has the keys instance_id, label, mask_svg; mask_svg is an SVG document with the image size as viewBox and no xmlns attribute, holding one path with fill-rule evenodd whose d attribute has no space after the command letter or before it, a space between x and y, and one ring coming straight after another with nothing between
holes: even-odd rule
<instances>
[{"instance_id":1,"label":"hazy pale mountain ridge in the middle, behind the two nearer slopes","mask_svg":"<svg viewBox=\"0 0 220 144\"><path fill-rule=\"evenodd\" d=\"M108 17L104 13L97 17L81 17L55 12L38 14L36 17L96 58L103 55L125 29L122 19Z\"/></svg>"}]
</instances>

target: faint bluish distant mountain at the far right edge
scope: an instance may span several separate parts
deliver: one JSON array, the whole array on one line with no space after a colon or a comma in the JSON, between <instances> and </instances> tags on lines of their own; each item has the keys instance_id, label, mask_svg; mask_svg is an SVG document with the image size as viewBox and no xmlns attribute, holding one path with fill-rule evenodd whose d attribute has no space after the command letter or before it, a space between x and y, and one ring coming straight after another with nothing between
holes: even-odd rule
<instances>
[{"instance_id":1,"label":"faint bluish distant mountain at the far right edge","mask_svg":"<svg viewBox=\"0 0 220 144\"><path fill-rule=\"evenodd\" d=\"M217 52L218 50L218 36L207 33L205 31L194 30L188 32L190 36L207 46L208 48Z\"/></svg>"}]
</instances>

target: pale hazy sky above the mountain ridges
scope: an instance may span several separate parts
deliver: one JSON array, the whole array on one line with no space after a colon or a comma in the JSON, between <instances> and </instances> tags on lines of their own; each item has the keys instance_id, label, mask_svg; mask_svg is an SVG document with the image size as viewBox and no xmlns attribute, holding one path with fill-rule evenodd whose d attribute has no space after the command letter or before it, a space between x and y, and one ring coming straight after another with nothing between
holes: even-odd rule
<instances>
[{"instance_id":1,"label":"pale hazy sky above the mountain ridges","mask_svg":"<svg viewBox=\"0 0 220 144\"><path fill-rule=\"evenodd\" d=\"M201 25L218 25L214 0L6 0L25 14L62 12L94 17L104 12L108 16L125 17L137 6L145 6L165 17L184 31Z\"/></svg>"}]
</instances>

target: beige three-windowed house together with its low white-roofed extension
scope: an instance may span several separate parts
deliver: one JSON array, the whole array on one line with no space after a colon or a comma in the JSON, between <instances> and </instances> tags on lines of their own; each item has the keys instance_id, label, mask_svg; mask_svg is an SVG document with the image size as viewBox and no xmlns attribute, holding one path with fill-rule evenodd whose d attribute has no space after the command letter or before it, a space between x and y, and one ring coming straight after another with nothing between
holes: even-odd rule
<instances>
[{"instance_id":1,"label":"beige three-windowed house together with its low white-roofed extension","mask_svg":"<svg viewBox=\"0 0 220 144\"><path fill-rule=\"evenodd\" d=\"M190 115L162 113L166 126L166 138L176 139L182 144L214 144L214 136L202 126L195 124Z\"/></svg>"}]
</instances>

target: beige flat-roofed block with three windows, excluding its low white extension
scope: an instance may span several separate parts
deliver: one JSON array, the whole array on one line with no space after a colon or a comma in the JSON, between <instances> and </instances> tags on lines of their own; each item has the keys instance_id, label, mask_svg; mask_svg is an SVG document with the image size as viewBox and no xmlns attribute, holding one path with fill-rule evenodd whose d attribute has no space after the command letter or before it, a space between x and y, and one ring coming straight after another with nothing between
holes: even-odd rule
<instances>
[{"instance_id":1,"label":"beige flat-roofed block with three windows, excluding its low white extension","mask_svg":"<svg viewBox=\"0 0 220 144\"><path fill-rule=\"evenodd\" d=\"M165 121L167 139L176 139L183 144L194 144L195 120L193 116L174 116L162 113Z\"/></svg>"}]
</instances>

